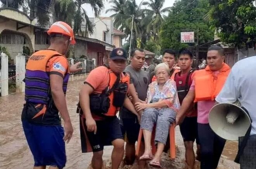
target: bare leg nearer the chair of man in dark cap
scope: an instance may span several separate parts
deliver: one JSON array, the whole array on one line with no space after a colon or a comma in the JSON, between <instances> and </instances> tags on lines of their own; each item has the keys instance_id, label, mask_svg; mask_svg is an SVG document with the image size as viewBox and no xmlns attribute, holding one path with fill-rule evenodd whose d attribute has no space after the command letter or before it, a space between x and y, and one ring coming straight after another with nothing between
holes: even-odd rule
<instances>
[{"instance_id":1,"label":"bare leg nearer the chair of man in dark cap","mask_svg":"<svg viewBox=\"0 0 256 169\"><path fill-rule=\"evenodd\" d=\"M122 139L116 139L112 141L112 145L114 146L111 155L112 169L118 169L125 153L125 141Z\"/></svg>"}]
</instances>

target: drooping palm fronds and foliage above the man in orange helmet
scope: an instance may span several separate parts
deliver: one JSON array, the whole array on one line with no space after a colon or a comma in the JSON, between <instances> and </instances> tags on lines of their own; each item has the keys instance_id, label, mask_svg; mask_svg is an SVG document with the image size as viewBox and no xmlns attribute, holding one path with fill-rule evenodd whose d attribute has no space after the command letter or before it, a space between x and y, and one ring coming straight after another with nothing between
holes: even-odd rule
<instances>
[{"instance_id":1,"label":"drooping palm fronds and foliage above the man in orange helmet","mask_svg":"<svg viewBox=\"0 0 256 169\"><path fill-rule=\"evenodd\" d=\"M84 3L90 4L95 17L98 17L104 8L103 0L14 0L8 7L22 9L31 19L36 17L41 25L48 24L50 17L53 21L64 21L69 25L74 23L74 33L81 31L81 26L86 24L86 31L92 34L93 24L81 7Z\"/></svg>"}]
</instances>

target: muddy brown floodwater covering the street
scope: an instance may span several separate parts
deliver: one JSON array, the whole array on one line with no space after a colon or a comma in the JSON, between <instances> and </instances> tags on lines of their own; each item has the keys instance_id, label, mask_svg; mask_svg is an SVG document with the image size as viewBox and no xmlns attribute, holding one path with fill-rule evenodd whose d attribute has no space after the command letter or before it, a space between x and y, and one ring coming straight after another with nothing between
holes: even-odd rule
<instances>
[{"instance_id":1,"label":"muddy brown floodwater covering the street","mask_svg":"<svg viewBox=\"0 0 256 169\"><path fill-rule=\"evenodd\" d=\"M78 102L78 92L82 81L69 82L67 91L67 105L71 116L74 133L71 141L66 145L67 169L90 168L92 153L81 153L79 117L76 114L76 103ZM7 97L0 97L0 169L32 169L33 157L27 145L22 125L21 110L24 103L24 93L13 94ZM163 154L162 166L164 169L183 169L185 167L182 137L176 128L176 159L170 160L167 154ZM104 168L111 166L112 147L104 149ZM237 142L227 141L222 153L218 169L239 169L239 165L233 162L237 153ZM133 166L120 168L136 169ZM150 167L151 168L151 167ZM196 162L199 169L199 162Z\"/></svg>"}]
</instances>

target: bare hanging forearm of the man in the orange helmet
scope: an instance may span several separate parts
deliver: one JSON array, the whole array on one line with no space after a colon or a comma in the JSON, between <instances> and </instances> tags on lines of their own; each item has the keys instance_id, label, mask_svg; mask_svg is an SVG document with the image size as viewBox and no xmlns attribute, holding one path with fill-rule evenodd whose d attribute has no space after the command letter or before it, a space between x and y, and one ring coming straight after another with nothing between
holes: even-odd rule
<instances>
[{"instance_id":1,"label":"bare hanging forearm of the man in the orange helmet","mask_svg":"<svg viewBox=\"0 0 256 169\"><path fill-rule=\"evenodd\" d=\"M70 121L69 113L67 110L66 98L64 92L59 91L52 91L52 98L54 100L54 104L61 113L61 117L64 122Z\"/></svg>"}]
</instances>

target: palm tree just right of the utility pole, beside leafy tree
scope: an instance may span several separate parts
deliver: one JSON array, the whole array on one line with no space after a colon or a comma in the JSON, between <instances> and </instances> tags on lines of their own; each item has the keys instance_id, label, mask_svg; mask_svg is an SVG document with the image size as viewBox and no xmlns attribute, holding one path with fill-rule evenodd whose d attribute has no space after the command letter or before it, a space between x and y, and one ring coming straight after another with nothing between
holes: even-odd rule
<instances>
[{"instance_id":1,"label":"palm tree just right of the utility pole, beside leafy tree","mask_svg":"<svg viewBox=\"0 0 256 169\"><path fill-rule=\"evenodd\" d=\"M156 36L159 33L160 25L164 21L163 13L170 11L170 7L163 8L165 0L149 0L149 2L143 2L143 5L147 5L149 9L144 9L144 12L147 14L145 18L148 20L150 18L150 22L147 26L147 32L151 32L154 34L154 41L156 40Z\"/></svg>"}]
</instances>

